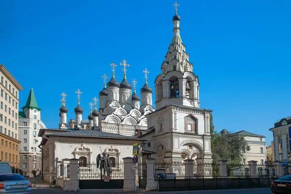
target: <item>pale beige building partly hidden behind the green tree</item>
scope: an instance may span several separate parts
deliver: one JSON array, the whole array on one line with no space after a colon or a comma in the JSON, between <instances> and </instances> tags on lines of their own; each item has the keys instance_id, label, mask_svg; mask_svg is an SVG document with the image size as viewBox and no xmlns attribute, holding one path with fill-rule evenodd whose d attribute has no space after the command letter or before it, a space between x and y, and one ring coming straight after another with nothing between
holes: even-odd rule
<instances>
[{"instance_id":1,"label":"pale beige building partly hidden behind the green tree","mask_svg":"<svg viewBox=\"0 0 291 194\"><path fill-rule=\"evenodd\" d=\"M264 164L266 161L265 136L247 132L245 130L232 134L243 136L248 144L247 150L243 153L243 163L248 161L258 161L258 164Z\"/></svg>"}]
</instances>

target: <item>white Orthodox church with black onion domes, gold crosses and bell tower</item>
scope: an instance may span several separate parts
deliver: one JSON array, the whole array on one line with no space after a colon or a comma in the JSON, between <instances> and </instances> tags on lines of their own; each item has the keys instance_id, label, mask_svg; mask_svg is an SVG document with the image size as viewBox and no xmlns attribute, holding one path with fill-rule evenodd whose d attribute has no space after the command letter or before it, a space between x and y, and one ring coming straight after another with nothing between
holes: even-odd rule
<instances>
[{"instance_id":1,"label":"white Orthodox church with black onion domes, gold crosses and bell tower","mask_svg":"<svg viewBox=\"0 0 291 194\"><path fill-rule=\"evenodd\" d=\"M147 84L147 69L144 70L146 83L136 93L136 81L132 85L126 78L119 83L113 75L110 81L105 74L104 87L97 97L95 109L84 122L80 106L81 91L77 90L78 105L76 120L67 124L65 93L60 108L60 124L57 129L41 129L40 146L43 149L43 173L51 182L58 162L77 158L83 163L96 162L101 151L110 160L119 162L132 156L132 145L139 143L140 160L150 155L157 161L173 162L194 159L196 162L211 162L210 113L201 109L199 102L199 80L193 73L193 64L180 37L180 16L173 17L174 36L161 65L161 74L155 80L155 107L152 106L153 90ZM106 87L107 82L107 87ZM132 93L133 86L133 93ZM90 103L91 106L94 105Z\"/></svg>"}]
</instances>

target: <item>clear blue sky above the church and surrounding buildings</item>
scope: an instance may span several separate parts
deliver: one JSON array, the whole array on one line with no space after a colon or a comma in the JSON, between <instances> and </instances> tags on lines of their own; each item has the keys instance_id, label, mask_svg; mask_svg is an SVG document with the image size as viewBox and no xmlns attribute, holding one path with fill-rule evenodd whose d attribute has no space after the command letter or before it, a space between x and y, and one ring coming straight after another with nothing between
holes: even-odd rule
<instances>
[{"instance_id":1,"label":"clear blue sky above the church and surrounding buildings","mask_svg":"<svg viewBox=\"0 0 291 194\"><path fill-rule=\"evenodd\" d=\"M128 80L149 84L161 73L173 36L175 1L50 0L0 2L0 64L32 87L42 120L57 128L62 92L75 118L75 91L88 103L102 89L109 64L126 59ZM266 136L291 115L291 1L181 0L181 37L200 81L200 108L213 110L216 130L247 130ZM116 71L122 80L121 67Z\"/></svg>"}]
</instances>

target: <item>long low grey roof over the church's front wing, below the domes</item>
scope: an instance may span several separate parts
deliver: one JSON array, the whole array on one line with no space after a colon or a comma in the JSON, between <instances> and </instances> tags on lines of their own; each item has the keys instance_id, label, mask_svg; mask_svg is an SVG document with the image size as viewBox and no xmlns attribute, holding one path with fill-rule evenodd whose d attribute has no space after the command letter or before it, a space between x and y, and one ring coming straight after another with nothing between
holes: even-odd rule
<instances>
[{"instance_id":1,"label":"long low grey roof over the church's front wing, below the domes","mask_svg":"<svg viewBox=\"0 0 291 194\"><path fill-rule=\"evenodd\" d=\"M43 129L41 129L43 130ZM55 130L55 129L53 129ZM43 130L44 131L44 130ZM59 132L60 131L60 132ZM49 136L62 136L62 137L86 137L86 138L102 138L102 139L125 139L125 140L135 140L135 141L141 141L143 139L137 138L137 137L130 137L126 135L120 135L115 133L109 133L109 132L102 132L99 130L80 130L80 129L66 129L66 131L57 129L55 132L46 134ZM39 132L40 135L41 132ZM39 136L38 135L38 136ZM40 146L45 145L47 142L47 139L43 139Z\"/></svg>"}]
</instances>

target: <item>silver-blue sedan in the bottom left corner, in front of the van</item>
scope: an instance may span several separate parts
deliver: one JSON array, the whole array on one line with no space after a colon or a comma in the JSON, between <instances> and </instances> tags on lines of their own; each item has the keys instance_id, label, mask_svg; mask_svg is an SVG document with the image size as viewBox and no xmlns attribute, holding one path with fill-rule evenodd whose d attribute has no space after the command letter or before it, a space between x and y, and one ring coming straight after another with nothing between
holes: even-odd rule
<instances>
[{"instance_id":1,"label":"silver-blue sedan in the bottom left corner, in front of the van","mask_svg":"<svg viewBox=\"0 0 291 194\"><path fill-rule=\"evenodd\" d=\"M31 194L32 183L19 174L0 174L0 194Z\"/></svg>"}]
</instances>

